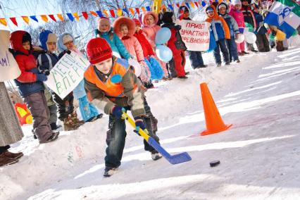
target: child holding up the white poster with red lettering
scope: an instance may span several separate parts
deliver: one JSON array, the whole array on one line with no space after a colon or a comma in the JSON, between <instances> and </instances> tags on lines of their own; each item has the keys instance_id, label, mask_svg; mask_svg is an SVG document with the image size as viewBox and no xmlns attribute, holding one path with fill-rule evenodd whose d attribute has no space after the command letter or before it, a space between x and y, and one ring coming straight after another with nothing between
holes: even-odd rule
<instances>
[{"instance_id":1,"label":"child holding up the white poster with red lettering","mask_svg":"<svg viewBox=\"0 0 300 200\"><path fill-rule=\"evenodd\" d=\"M180 6L178 13L180 13L180 20L192 20L189 18L189 8L187 6ZM191 61L193 69L207 67L207 65L204 65L201 51L187 51L187 53L189 54L189 61Z\"/></svg>"}]
</instances>

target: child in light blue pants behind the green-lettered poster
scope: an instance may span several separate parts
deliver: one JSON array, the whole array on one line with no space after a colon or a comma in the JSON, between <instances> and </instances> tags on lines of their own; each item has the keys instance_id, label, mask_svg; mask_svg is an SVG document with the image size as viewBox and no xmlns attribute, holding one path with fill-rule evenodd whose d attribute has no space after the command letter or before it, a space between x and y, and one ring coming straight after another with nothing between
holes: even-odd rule
<instances>
[{"instance_id":1,"label":"child in light blue pants behind the green-lettered poster","mask_svg":"<svg viewBox=\"0 0 300 200\"><path fill-rule=\"evenodd\" d=\"M63 57L66 51L75 51L75 53L80 54L80 51L75 46L75 38L72 34L65 32L58 39L58 48L61 52L59 54L59 58ZM85 84L84 80L82 80L75 89L73 89L73 96L75 99L79 101L79 108L82 119L85 122L89 122L92 120L96 120L97 118L101 118L102 115L99 115L96 107L92 105L87 100L87 93L85 92ZM70 117L67 121L68 127L77 128L82 125L84 122L77 119L77 115L75 113L70 113Z\"/></svg>"}]
</instances>

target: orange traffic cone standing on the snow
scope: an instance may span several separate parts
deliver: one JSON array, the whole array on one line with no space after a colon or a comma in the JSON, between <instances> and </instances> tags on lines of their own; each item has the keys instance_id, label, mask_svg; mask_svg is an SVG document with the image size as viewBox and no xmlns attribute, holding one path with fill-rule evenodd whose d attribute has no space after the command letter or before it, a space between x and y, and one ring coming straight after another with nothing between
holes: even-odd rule
<instances>
[{"instance_id":1,"label":"orange traffic cone standing on the snow","mask_svg":"<svg viewBox=\"0 0 300 200\"><path fill-rule=\"evenodd\" d=\"M210 135L227 130L232 124L225 125L223 123L218 108L215 106L215 101L213 101L213 96L211 96L211 92L209 92L205 82L200 84L200 89L206 123L206 130L201 132L201 135Z\"/></svg>"}]
</instances>

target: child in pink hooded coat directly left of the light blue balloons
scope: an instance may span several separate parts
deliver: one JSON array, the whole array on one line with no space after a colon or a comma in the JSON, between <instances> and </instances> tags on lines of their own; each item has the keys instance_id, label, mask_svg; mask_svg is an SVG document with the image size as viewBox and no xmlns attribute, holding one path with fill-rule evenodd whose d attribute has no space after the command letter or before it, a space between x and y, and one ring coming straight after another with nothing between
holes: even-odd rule
<instances>
[{"instance_id":1,"label":"child in pink hooded coat directly left of the light blue balloons","mask_svg":"<svg viewBox=\"0 0 300 200\"><path fill-rule=\"evenodd\" d=\"M149 43L152 46L152 49L155 50L156 44L155 44L155 36L158 30L161 29L158 23L158 15L152 11L144 12L142 13L142 24L143 24L143 32L146 35L146 39L148 39ZM157 56L156 59L161 63L161 68L163 68L164 77L163 80L171 80L172 77L168 75L168 70L165 66L165 63L163 61L160 61Z\"/></svg>"}]
</instances>

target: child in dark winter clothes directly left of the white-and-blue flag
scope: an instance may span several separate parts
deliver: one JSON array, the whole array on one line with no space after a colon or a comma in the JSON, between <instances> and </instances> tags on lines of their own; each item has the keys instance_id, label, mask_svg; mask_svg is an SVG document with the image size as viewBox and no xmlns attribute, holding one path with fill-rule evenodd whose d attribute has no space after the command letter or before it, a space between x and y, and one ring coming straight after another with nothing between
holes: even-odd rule
<instances>
[{"instance_id":1,"label":"child in dark winter clothes directly left of the white-and-blue flag","mask_svg":"<svg viewBox=\"0 0 300 200\"><path fill-rule=\"evenodd\" d=\"M253 4L253 11L256 20L256 30L254 33L256 34L256 45L258 51L268 52L270 51L269 41L266 35L268 30L263 25L263 16L258 13L259 10L256 4Z\"/></svg>"}]
</instances>

